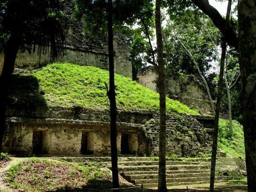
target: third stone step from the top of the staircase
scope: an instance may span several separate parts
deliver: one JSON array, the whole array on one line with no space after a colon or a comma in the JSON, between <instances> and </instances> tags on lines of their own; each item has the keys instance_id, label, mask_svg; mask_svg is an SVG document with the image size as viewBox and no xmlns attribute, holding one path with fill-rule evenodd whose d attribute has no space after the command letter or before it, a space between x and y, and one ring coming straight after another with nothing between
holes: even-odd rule
<instances>
[{"instance_id":1,"label":"third stone step from the top of the staircase","mask_svg":"<svg viewBox=\"0 0 256 192\"><path fill-rule=\"evenodd\" d=\"M109 167L111 168L111 166ZM209 169L209 165L166 165L166 170L183 170L183 169ZM153 166L119 166L119 172L128 171L157 171L158 165Z\"/></svg>"}]
</instances>

